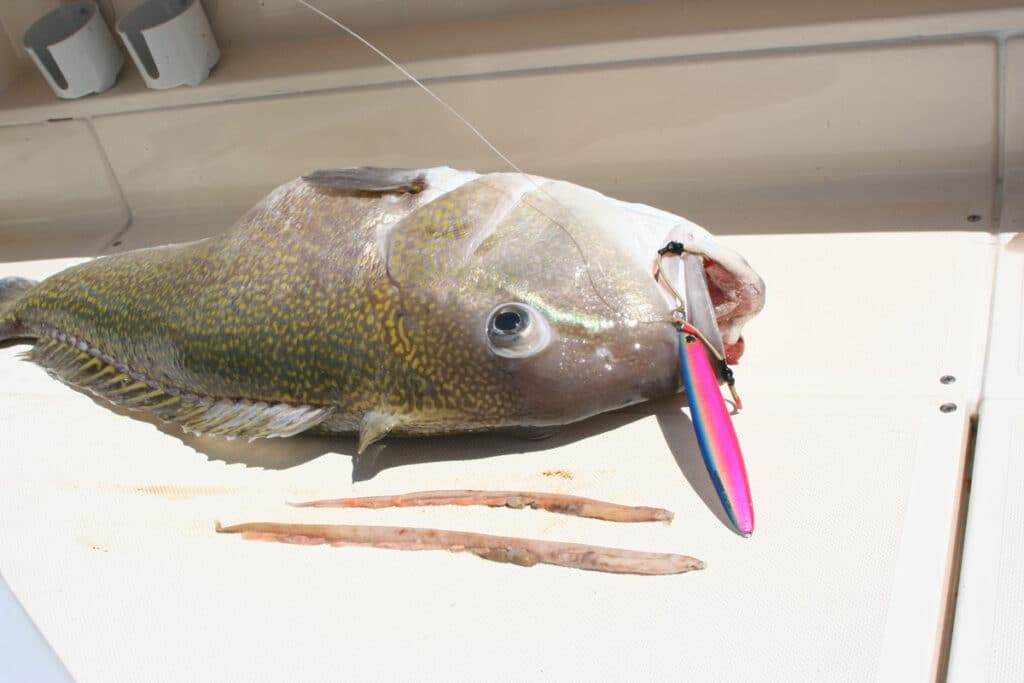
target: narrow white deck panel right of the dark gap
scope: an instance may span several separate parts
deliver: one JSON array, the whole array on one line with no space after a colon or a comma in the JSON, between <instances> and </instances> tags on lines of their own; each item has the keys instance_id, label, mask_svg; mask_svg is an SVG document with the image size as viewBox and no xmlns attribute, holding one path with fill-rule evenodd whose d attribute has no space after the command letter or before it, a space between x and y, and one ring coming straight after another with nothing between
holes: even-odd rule
<instances>
[{"instance_id":1,"label":"narrow white deck panel right of the dark gap","mask_svg":"<svg viewBox=\"0 0 1024 683\"><path fill-rule=\"evenodd\" d=\"M1000 250L949 680L1024 680L1024 237Z\"/></svg>"}]
</instances>

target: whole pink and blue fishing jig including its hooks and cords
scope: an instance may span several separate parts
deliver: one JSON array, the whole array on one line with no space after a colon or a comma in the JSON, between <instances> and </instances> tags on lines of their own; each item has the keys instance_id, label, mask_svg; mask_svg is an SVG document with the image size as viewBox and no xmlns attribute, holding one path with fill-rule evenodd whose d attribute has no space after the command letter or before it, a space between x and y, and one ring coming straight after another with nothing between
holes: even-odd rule
<instances>
[{"instance_id":1,"label":"whole pink and blue fishing jig including its hooks and cords","mask_svg":"<svg viewBox=\"0 0 1024 683\"><path fill-rule=\"evenodd\" d=\"M684 253L686 253L683 263L685 299L680 296L668 278L660 276L665 257L671 254L684 258ZM729 521L742 536L749 537L754 532L751 485L736 430L732 425L722 392L718 388L719 379L728 385L737 411L742 408L742 402L736 392L732 370L725 359L724 344L708 293L702 257L686 252L683 245L678 242L670 242L659 249L657 254L658 281L679 303L673 312L673 323L679 330L680 368L700 456L729 516ZM705 318L700 322L705 327L703 332L694 325L691 317ZM717 360L717 374L708 355L709 349Z\"/></svg>"}]
</instances>

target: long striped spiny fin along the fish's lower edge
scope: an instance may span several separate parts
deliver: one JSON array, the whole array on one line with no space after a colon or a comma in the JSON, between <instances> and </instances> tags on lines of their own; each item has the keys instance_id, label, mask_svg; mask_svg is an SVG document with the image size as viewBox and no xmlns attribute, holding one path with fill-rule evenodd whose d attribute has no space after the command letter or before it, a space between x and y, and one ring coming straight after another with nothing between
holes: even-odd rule
<instances>
[{"instance_id":1,"label":"long striped spiny fin along the fish's lower edge","mask_svg":"<svg viewBox=\"0 0 1024 683\"><path fill-rule=\"evenodd\" d=\"M115 365L73 337L43 337L26 355L66 384L196 434L249 440L292 436L318 425L333 412L317 405L215 398L178 391Z\"/></svg>"}]
</instances>

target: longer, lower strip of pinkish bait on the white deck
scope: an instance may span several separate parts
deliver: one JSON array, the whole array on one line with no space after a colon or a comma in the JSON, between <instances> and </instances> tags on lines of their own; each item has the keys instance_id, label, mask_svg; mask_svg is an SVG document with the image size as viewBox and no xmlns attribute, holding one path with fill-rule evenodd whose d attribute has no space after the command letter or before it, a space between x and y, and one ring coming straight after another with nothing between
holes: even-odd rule
<instances>
[{"instance_id":1,"label":"longer, lower strip of pinkish bait on the white deck","mask_svg":"<svg viewBox=\"0 0 1024 683\"><path fill-rule=\"evenodd\" d=\"M242 538L249 541L272 541L304 546L371 546L393 550L449 550L455 553L472 553L486 560L508 562L520 566L556 564L610 573L669 574L683 573L705 567L701 560L672 553L647 553L578 543L537 541L412 526L248 522L232 526L221 526L218 523L217 531L219 533L242 533Z\"/></svg>"}]
</instances>

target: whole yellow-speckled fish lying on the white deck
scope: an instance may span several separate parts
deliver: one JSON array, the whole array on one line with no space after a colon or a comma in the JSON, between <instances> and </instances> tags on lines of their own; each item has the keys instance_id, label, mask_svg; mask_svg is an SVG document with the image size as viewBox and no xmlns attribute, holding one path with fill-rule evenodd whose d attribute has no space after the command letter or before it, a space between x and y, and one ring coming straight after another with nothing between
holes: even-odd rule
<instances>
[{"instance_id":1,"label":"whole yellow-speckled fish lying on the white deck","mask_svg":"<svg viewBox=\"0 0 1024 683\"><path fill-rule=\"evenodd\" d=\"M449 168L317 171L218 237L0 281L0 342L185 430L394 434L562 425L681 390L670 241L703 256L730 360L761 279L673 214ZM672 259L678 262L680 259ZM677 265L663 276L682 291Z\"/></svg>"}]
</instances>

